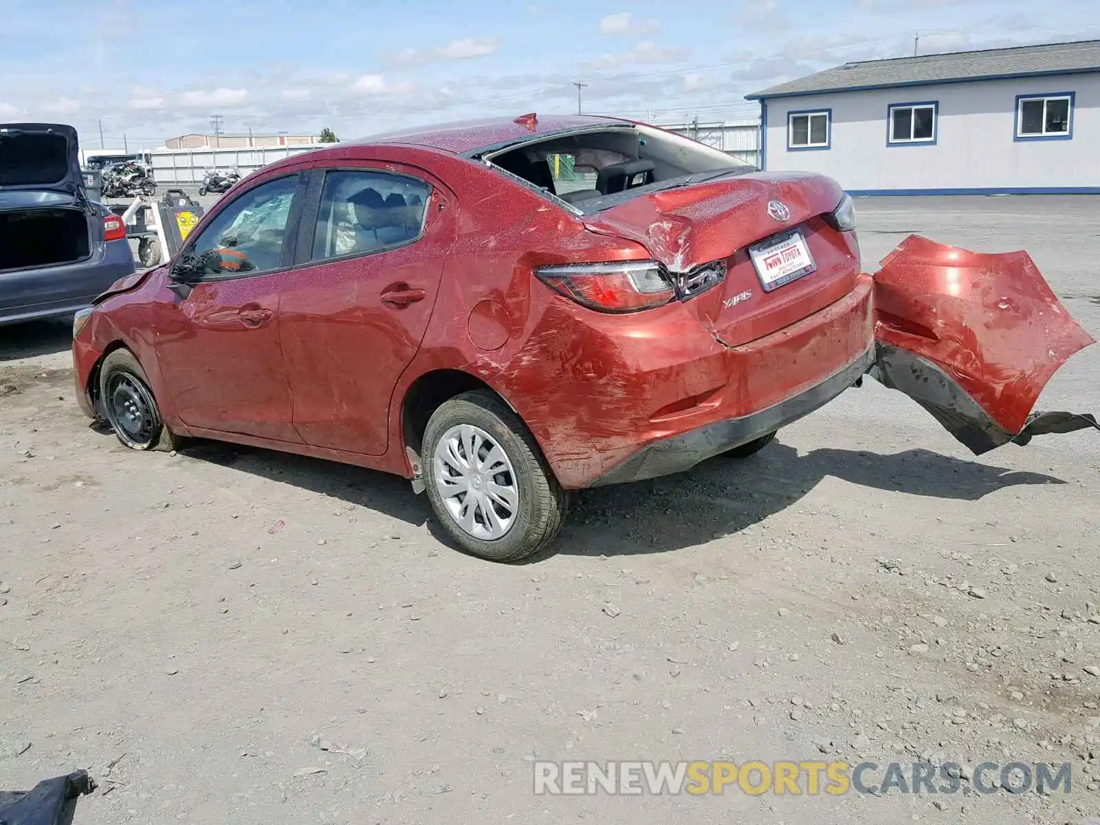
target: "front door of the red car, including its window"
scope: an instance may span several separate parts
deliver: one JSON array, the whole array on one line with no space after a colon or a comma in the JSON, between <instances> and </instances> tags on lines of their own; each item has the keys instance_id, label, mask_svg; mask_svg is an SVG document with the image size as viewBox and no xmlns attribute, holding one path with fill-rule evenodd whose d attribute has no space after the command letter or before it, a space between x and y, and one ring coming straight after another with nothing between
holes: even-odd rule
<instances>
[{"instance_id":1,"label":"front door of the red car, including its window","mask_svg":"<svg viewBox=\"0 0 1100 825\"><path fill-rule=\"evenodd\" d=\"M304 185L302 174L288 174L250 187L184 249L180 260L198 263L198 272L176 276L186 283L154 314L154 348L188 427L301 442L290 420L278 300Z\"/></svg>"}]
</instances>

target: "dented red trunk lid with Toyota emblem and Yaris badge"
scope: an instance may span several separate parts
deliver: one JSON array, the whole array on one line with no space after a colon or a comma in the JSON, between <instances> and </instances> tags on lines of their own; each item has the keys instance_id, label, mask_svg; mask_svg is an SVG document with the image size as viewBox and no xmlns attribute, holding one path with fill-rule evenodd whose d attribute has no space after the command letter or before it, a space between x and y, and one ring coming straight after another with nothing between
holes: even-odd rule
<instances>
[{"instance_id":1,"label":"dented red trunk lid with Toyota emblem and Yaris badge","mask_svg":"<svg viewBox=\"0 0 1100 825\"><path fill-rule=\"evenodd\" d=\"M810 316L848 294L859 274L854 233L839 232L822 216L844 193L813 174L739 175L642 195L584 218L593 232L642 244L681 282L701 279L701 267L721 262L725 279L684 306L727 346L754 341ZM771 288L758 274L749 248L798 232L813 271ZM782 272L782 249L776 250ZM766 268L768 252L758 256ZM767 274L767 273L766 273Z\"/></svg>"}]
</instances>

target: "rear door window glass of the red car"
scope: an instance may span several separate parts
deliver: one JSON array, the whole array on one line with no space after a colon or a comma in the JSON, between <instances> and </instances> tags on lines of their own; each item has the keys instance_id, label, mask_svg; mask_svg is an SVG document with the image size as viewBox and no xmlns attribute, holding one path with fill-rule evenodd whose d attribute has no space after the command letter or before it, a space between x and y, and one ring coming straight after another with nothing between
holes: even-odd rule
<instances>
[{"instance_id":1,"label":"rear door window glass of the red car","mask_svg":"<svg viewBox=\"0 0 1100 825\"><path fill-rule=\"evenodd\" d=\"M324 176L311 260L365 255L420 238L431 187L385 172L336 170Z\"/></svg>"}]
</instances>

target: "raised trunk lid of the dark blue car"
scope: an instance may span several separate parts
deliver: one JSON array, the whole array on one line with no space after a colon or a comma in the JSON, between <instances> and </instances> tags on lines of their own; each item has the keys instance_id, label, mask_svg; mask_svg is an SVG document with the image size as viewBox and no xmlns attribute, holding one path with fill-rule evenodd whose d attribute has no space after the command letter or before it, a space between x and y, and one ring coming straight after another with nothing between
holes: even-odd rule
<instances>
[{"instance_id":1,"label":"raised trunk lid of the dark blue car","mask_svg":"<svg viewBox=\"0 0 1100 825\"><path fill-rule=\"evenodd\" d=\"M76 130L59 123L0 124L0 193L82 189Z\"/></svg>"}]
</instances>

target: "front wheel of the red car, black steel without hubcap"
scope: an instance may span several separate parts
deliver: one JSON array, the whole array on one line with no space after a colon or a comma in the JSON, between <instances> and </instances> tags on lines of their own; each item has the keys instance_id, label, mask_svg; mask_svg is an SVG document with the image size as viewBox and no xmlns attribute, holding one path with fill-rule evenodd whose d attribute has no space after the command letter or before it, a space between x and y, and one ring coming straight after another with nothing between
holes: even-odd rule
<instances>
[{"instance_id":1,"label":"front wheel of the red car, black steel without hubcap","mask_svg":"<svg viewBox=\"0 0 1100 825\"><path fill-rule=\"evenodd\" d=\"M175 450L182 440L172 435L156 405L148 377L130 350L116 350L99 367L99 398L116 437L131 450Z\"/></svg>"}]
</instances>

